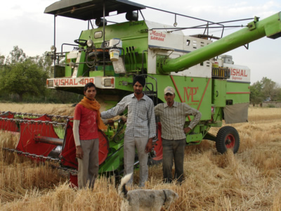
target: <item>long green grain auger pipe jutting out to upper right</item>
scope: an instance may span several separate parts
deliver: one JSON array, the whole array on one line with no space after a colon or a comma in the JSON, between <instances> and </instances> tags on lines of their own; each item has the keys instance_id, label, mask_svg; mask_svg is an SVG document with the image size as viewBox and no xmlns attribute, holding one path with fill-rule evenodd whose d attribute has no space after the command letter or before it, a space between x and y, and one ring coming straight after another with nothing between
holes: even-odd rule
<instances>
[{"instance_id":1,"label":"long green grain auger pipe jutting out to upper right","mask_svg":"<svg viewBox=\"0 0 281 211\"><path fill-rule=\"evenodd\" d=\"M271 39L281 37L280 18L281 12L261 21L255 17L254 21L242 30L229 34L201 49L178 58L162 58L159 60L159 72L165 74L182 71L262 37L266 36Z\"/></svg>"}]
</instances>

